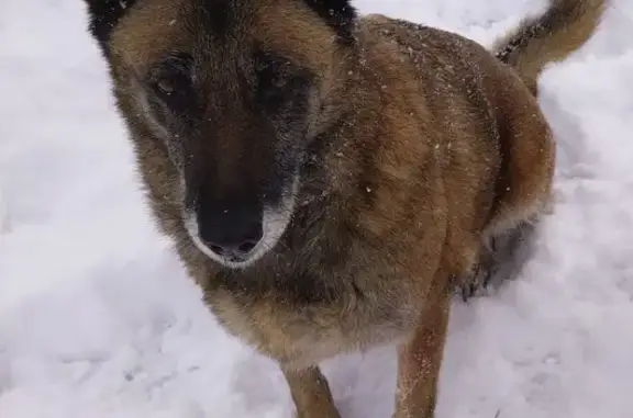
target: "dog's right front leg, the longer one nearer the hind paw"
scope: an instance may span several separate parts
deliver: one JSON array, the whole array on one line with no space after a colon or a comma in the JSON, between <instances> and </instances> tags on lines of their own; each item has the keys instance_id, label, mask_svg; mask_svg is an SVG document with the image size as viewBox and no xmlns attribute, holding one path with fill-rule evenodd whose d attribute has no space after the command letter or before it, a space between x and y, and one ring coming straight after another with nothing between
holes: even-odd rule
<instances>
[{"instance_id":1,"label":"dog's right front leg, the longer one nearer the hind paw","mask_svg":"<svg viewBox=\"0 0 633 418\"><path fill-rule=\"evenodd\" d=\"M393 418L433 418L437 380L448 327L451 290L437 283L411 337L398 348Z\"/></svg>"}]
</instances>

